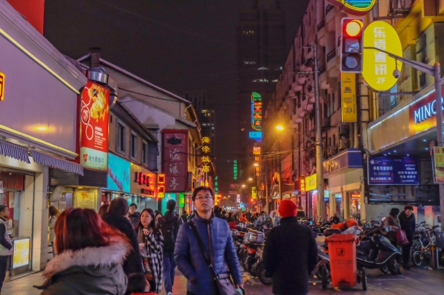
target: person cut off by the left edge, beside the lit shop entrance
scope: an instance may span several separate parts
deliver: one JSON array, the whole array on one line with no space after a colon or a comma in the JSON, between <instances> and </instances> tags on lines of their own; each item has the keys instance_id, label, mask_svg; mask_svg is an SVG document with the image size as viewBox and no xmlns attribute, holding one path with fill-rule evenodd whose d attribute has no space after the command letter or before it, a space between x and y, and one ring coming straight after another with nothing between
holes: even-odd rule
<instances>
[{"instance_id":1,"label":"person cut off by the left edge, beside the lit shop entrance","mask_svg":"<svg viewBox=\"0 0 444 295\"><path fill-rule=\"evenodd\" d=\"M0 205L0 292L3 287L3 280L6 277L6 267L8 260L14 252L12 249L11 239L8 235L8 222L10 211L5 205Z\"/></svg>"}]
</instances>

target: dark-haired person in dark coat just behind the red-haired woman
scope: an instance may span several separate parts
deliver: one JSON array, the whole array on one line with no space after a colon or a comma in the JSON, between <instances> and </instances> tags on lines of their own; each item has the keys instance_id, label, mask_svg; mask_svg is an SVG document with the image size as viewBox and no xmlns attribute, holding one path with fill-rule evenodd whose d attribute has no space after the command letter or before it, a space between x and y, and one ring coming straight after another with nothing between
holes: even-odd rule
<instances>
[{"instance_id":1,"label":"dark-haired person in dark coat just behind the red-haired woman","mask_svg":"<svg viewBox=\"0 0 444 295\"><path fill-rule=\"evenodd\" d=\"M142 267L142 258L139 251L139 242L137 242L137 235L134 230L133 224L128 220L128 202L123 197L117 197L113 199L108 208L108 213L102 215L102 220L117 229L130 241L133 250L130 251L123 262L123 271L128 276L135 272L144 272Z\"/></svg>"}]
</instances>

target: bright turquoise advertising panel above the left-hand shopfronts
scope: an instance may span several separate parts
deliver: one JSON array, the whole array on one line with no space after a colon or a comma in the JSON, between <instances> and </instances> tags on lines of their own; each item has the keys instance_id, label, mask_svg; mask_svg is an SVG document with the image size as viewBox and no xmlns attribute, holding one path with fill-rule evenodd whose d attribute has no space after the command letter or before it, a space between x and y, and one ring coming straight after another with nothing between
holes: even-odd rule
<instances>
[{"instance_id":1,"label":"bright turquoise advertising panel above the left-hand shopfronts","mask_svg":"<svg viewBox=\"0 0 444 295\"><path fill-rule=\"evenodd\" d=\"M108 154L108 186L106 190L130 193L131 163L114 154Z\"/></svg>"}]
</instances>

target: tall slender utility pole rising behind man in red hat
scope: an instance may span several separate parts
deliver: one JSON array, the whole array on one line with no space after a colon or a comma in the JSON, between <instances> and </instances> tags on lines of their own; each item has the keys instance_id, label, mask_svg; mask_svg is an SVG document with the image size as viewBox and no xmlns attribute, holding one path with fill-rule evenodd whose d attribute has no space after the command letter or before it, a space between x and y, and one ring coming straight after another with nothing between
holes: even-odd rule
<instances>
[{"instance_id":1,"label":"tall slender utility pole rising behind man in red hat","mask_svg":"<svg viewBox=\"0 0 444 295\"><path fill-rule=\"evenodd\" d=\"M314 49L314 105L315 105L315 125L316 125L316 186L318 190L318 217L325 220L325 199L324 199L324 166L322 157L322 120L321 120L321 101L319 98L319 71L318 71L318 46Z\"/></svg>"}]
</instances>

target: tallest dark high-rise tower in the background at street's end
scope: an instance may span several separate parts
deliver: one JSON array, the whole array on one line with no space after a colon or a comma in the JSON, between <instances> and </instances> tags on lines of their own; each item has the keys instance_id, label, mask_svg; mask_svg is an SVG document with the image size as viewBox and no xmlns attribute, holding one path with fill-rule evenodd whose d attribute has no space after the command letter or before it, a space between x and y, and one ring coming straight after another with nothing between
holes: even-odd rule
<instances>
[{"instance_id":1,"label":"tallest dark high-rise tower in the background at street's end","mask_svg":"<svg viewBox=\"0 0 444 295\"><path fill-rule=\"evenodd\" d=\"M248 159L253 147L253 140L248 138L253 131L252 92L259 93L266 105L282 73L285 57L285 19L280 1L252 1L250 9L241 12L237 28L237 157L240 166L246 165L243 160Z\"/></svg>"}]
</instances>

